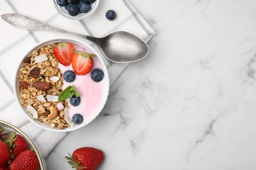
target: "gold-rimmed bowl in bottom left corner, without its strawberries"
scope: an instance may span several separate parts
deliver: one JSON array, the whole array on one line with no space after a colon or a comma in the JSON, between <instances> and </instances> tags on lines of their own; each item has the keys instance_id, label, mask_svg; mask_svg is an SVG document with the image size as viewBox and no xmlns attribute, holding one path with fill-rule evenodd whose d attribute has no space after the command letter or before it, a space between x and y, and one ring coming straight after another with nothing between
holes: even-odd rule
<instances>
[{"instance_id":1,"label":"gold-rimmed bowl in bottom left corner, without its strawberries","mask_svg":"<svg viewBox=\"0 0 256 170\"><path fill-rule=\"evenodd\" d=\"M26 141L28 141L28 144L30 144L30 147L33 149L33 151L37 155L37 158L38 158L39 164L40 164L40 170L47 170L45 160L39 154L39 151L37 150L35 144L33 144L32 140L23 131L18 129L18 127L13 126L12 124L9 124L8 122L5 122L3 120L0 120L0 125L5 127L5 131L3 132L3 135L5 135L9 132L15 132L16 134L19 134L22 137L24 137L24 139L26 139Z\"/></svg>"}]
</instances>

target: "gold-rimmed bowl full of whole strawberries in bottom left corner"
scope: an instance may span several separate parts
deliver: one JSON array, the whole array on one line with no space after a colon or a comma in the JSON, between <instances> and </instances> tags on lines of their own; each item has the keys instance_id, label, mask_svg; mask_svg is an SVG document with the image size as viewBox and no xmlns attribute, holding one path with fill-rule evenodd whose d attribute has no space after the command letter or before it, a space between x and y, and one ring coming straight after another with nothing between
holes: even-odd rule
<instances>
[{"instance_id":1,"label":"gold-rimmed bowl full of whole strawberries in bottom left corner","mask_svg":"<svg viewBox=\"0 0 256 170\"><path fill-rule=\"evenodd\" d=\"M35 144L18 127L0 120L0 169L46 169Z\"/></svg>"}]
</instances>

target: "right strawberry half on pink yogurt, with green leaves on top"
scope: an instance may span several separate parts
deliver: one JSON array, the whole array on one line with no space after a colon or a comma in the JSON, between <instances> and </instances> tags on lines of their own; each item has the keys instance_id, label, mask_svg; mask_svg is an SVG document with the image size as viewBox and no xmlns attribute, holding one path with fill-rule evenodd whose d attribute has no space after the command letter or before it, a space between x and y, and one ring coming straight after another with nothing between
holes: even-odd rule
<instances>
[{"instance_id":1,"label":"right strawberry half on pink yogurt, with green leaves on top","mask_svg":"<svg viewBox=\"0 0 256 170\"><path fill-rule=\"evenodd\" d=\"M77 75L86 75L93 67L94 54L87 52L75 51L72 58L72 67Z\"/></svg>"}]
</instances>

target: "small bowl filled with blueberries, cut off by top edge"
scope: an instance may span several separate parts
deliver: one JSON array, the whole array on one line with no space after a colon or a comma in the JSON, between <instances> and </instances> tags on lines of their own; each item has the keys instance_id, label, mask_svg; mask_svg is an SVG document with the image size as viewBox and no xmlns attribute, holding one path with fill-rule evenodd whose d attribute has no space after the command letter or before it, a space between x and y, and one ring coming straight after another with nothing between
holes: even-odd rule
<instances>
[{"instance_id":1,"label":"small bowl filled with blueberries, cut off by top edge","mask_svg":"<svg viewBox=\"0 0 256 170\"><path fill-rule=\"evenodd\" d=\"M62 16L82 20L95 12L99 0L53 0L53 3Z\"/></svg>"}]
</instances>

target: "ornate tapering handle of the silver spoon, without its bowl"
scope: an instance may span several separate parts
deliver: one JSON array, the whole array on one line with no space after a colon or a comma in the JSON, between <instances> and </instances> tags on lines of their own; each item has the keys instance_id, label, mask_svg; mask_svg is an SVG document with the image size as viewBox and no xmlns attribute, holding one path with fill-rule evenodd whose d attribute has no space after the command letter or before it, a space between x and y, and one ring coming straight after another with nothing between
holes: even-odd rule
<instances>
[{"instance_id":1,"label":"ornate tapering handle of the silver spoon, without its bowl","mask_svg":"<svg viewBox=\"0 0 256 170\"><path fill-rule=\"evenodd\" d=\"M55 32L61 32L61 33L67 33L71 35L75 35L78 37L87 38L85 35L81 35L79 33L72 33L70 31L66 31L64 29L59 29L47 24L43 24L42 22L39 22L38 20L35 20L33 18L30 18L29 16L25 16L22 14L17 13L10 13L10 14L3 14L1 15L1 18L8 22L9 24L13 25L14 27L18 27L21 29L32 29L32 30L41 30L41 31L55 31Z\"/></svg>"}]
</instances>

